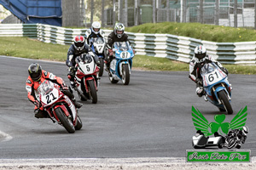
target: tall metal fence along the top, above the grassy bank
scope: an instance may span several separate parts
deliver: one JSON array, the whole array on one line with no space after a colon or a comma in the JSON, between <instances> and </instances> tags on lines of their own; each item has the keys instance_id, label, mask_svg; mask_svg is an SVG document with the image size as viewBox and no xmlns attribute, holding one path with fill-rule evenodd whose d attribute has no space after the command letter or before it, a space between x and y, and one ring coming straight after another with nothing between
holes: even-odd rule
<instances>
[{"instance_id":1,"label":"tall metal fence along the top, above the grassy bank","mask_svg":"<svg viewBox=\"0 0 256 170\"><path fill-rule=\"evenodd\" d=\"M254 27L254 4L254 0L87 0L86 26L102 20L103 26L172 21Z\"/></svg>"}]
</instances>

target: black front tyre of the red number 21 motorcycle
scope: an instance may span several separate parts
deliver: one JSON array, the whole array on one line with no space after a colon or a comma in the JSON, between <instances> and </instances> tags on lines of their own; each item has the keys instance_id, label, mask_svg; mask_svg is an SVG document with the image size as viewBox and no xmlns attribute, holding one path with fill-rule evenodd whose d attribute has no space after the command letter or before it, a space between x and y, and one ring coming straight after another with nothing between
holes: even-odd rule
<instances>
[{"instance_id":1,"label":"black front tyre of the red number 21 motorcycle","mask_svg":"<svg viewBox=\"0 0 256 170\"><path fill-rule=\"evenodd\" d=\"M55 109L56 116L59 118L63 127L66 128L68 133L75 133L75 127L73 127L73 121L68 118L60 107Z\"/></svg>"}]
</instances>

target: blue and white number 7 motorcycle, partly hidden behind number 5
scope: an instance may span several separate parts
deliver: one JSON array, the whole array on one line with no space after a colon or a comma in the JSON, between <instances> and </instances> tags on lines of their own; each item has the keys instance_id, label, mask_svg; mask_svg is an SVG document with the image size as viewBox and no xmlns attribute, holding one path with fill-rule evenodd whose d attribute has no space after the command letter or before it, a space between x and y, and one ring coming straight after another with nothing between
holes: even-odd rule
<instances>
[{"instance_id":1,"label":"blue and white number 7 motorcycle, partly hidden behind number 5","mask_svg":"<svg viewBox=\"0 0 256 170\"><path fill-rule=\"evenodd\" d=\"M106 48L105 39L102 37L91 38L90 48L99 57L99 60L100 60L99 77L102 77L103 70L104 70L104 55L105 55L105 48Z\"/></svg>"}]
</instances>

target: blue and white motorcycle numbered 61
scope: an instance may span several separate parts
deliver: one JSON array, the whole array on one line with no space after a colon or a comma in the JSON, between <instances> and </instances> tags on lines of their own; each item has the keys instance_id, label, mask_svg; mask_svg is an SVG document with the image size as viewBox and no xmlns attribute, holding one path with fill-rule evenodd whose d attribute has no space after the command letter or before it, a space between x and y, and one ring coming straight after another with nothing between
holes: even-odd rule
<instances>
[{"instance_id":1,"label":"blue and white motorcycle numbered 61","mask_svg":"<svg viewBox=\"0 0 256 170\"><path fill-rule=\"evenodd\" d=\"M207 63L201 68L201 77L206 97L219 111L232 114L231 86L228 76L215 63Z\"/></svg>"}]
</instances>

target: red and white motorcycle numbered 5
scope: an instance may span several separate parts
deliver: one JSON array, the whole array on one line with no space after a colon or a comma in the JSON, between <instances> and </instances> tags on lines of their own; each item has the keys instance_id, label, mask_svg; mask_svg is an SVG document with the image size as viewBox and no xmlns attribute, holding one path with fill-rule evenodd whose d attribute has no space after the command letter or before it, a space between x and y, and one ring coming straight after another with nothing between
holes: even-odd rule
<instances>
[{"instance_id":1,"label":"red and white motorcycle numbered 5","mask_svg":"<svg viewBox=\"0 0 256 170\"><path fill-rule=\"evenodd\" d=\"M77 59L74 88L82 101L90 99L93 104L97 103L97 91L99 85L99 68L90 54L81 54Z\"/></svg>"}]
</instances>

